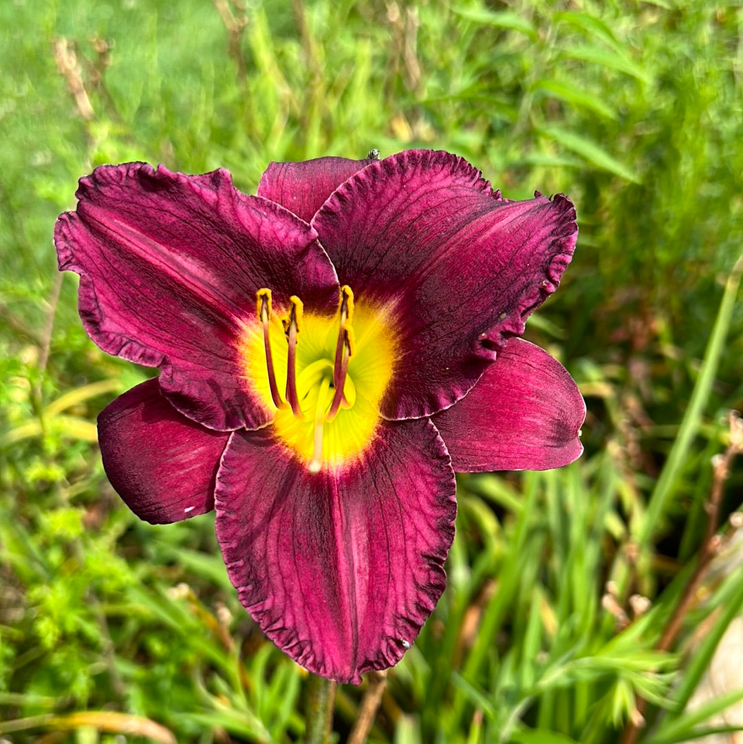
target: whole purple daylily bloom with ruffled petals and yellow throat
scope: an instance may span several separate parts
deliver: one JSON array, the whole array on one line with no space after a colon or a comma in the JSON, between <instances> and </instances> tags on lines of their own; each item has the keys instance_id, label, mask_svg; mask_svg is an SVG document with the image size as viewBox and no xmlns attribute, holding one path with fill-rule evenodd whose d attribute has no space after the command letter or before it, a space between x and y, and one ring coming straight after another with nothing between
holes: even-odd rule
<instances>
[{"instance_id":1,"label":"whole purple daylily bloom with ruffled petals and yellow throat","mask_svg":"<svg viewBox=\"0 0 743 744\"><path fill-rule=\"evenodd\" d=\"M518 338L576 242L562 194L514 202L463 158L129 163L80 180L60 269L103 350L160 375L98 421L142 519L216 510L239 599L307 669L396 664L444 589L454 471L582 451L570 376Z\"/></svg>"}]
</instances>

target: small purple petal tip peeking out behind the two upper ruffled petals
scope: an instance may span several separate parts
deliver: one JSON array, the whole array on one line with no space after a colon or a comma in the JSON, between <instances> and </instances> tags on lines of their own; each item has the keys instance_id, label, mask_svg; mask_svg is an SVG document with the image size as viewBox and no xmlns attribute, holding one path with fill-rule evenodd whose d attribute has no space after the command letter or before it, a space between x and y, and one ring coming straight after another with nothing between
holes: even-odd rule
<instances>
[{"instance_id":1,"label":"small purple petal tip peeking out behind the two upper ruffled petals","mask_svg":"<svg viewBox=\"0 0 743 744\"><path fill-rule=\"evenodd\" d=\"M370 158L315 158L302 163L269 163L260 178L257 193L309 222L338 186L370 163L373 163Z\"/></svg>"}]
</instances>

